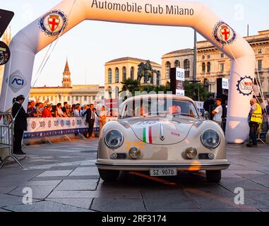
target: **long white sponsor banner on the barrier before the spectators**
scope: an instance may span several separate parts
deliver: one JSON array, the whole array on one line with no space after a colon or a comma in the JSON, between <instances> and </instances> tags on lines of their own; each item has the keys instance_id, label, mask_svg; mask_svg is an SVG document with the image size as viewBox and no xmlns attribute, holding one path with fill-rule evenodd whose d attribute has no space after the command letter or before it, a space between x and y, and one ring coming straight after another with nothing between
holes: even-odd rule
<instances>
[{"instance_id":1,"label":"long white sponsor banner on the barrier before the spectators","mask_svg":"<svg viewBox=\"0 0 269 226\"><path fill-rule=\"evenodd\" d=\"M28 131L23 138L61 136L74 133L87 133L88 123L85 118L28 118ZM99 127L93 129L99 133Z\"/></svg>"}]
</instances>

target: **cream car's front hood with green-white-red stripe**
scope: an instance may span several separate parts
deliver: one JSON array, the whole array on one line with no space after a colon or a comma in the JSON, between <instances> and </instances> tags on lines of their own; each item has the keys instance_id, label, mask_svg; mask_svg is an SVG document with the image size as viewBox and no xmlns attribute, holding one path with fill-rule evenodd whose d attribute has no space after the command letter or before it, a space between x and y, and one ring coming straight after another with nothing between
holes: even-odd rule
<instances>
[{"instance_id":1,"label":"cream car's front hood with green-white-red stripe","mask_svg":"<svg viewBox=\"0 0 269 226\"><path fill-rule=\"evenodd\" d=\"M166 119L159 117L123 119L121 124L128 124L136 137L144 143L170 145L184 141L193 124L198 119L180 117Z\"/></svg>"}]
</instances>

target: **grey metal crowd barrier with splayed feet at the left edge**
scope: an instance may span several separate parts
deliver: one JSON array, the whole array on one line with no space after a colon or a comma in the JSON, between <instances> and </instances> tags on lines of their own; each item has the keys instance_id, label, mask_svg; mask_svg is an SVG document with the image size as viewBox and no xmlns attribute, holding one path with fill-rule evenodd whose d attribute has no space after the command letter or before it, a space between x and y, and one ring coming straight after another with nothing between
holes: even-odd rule
<instances>
[{"instance_id":1,"label":"grey metal crowd barrier with splayed feet at the left edge","mask_svg":"<svg viewBox=\"0 0 269 226\"><path fill-rule=\"evenodd\" d=\"M21 169L24 168L18 158L13 155L13 128L14 120L12 115L10 113L0 112L0 151L8 149L8 156L1 161L0 169L4 167L10 158L17 162Z\"/></svg>"}]
</instances>

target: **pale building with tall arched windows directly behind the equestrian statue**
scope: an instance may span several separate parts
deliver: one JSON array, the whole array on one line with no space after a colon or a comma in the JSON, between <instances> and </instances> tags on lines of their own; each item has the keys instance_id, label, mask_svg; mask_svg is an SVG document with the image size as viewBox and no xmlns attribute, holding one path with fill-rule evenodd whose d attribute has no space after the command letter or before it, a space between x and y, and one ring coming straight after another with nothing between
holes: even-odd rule
<instances>
[{"instance_id":1,"label":"pale building with tall arched windows directly behind the equestrian statue","mask_svg":"<svg viewBox=\"0 0 269 226\"><path fill-rule=\"evenodd\" d=\"M115 92L116 90L120 91L122 88L122 81L128 78L136 80L138 76L138 64L141 62L145 63L146 60L133 57L123 57L105 63L105 90L107 91L111 89ZM162 66L160 64L157 64L153 61L150 61L150 64L153 66L153 69L161 73ZM154 78L149 83L154 85L161 85L161 78L158 78L158 76L154 74Z\"/></svg>"}]
</instances>

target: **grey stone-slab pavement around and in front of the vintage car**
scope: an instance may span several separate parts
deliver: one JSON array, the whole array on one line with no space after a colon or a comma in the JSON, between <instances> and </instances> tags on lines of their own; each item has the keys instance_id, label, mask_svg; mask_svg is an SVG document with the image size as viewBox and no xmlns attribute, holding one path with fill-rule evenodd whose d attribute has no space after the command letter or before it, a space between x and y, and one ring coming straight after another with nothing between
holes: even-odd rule
<instances>
[{"instance_id":1,"label":"grey stone-slab pavement around and in front of the vintage car","mask_svg":"<svg viewBox=\"0 0 269 226\"><path fill-rule=\"evenodd\" d=\"M269 211L269 148L228 145L232 163L220 184L203 172L182 173L160 183L129 173L106 183L95 167L97 140L24 148L26 169L0 169L0 212L6 211ZM244 189L244 205L234 189ZM23 189L32 189L32 205Z\"/></svg>"}]
</instances>

